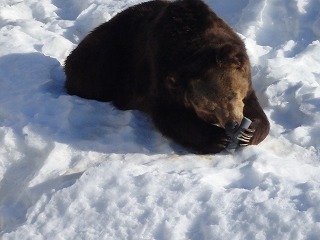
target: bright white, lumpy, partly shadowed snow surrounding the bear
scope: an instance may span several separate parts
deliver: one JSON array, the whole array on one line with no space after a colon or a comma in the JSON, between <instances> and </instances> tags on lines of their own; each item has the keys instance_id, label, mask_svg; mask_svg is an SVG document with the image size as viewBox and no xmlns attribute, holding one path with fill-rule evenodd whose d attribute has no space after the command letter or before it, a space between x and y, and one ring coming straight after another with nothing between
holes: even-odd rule
<instances>
[{"instance_id":1,"label":"bright white, lumpy, partly shadowed snow surrounding the bear","mask_svg":"<svg viewBox=\"0 0 320 240\"><path fill-rule=\"evenodd\" d=\"M207 1L244 39L271 122L233 155L66 94L66 56L139 2L0 1L0 238L320 239L320 1Z\"/></svg>"}]
</instances>

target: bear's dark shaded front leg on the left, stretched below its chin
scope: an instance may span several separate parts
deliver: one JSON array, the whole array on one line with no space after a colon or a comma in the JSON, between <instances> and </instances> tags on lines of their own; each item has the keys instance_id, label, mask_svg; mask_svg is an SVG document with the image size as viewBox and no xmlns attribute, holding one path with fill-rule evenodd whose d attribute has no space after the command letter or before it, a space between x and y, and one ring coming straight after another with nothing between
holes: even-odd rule
<instances>
[{"instance_id":1,"label":"bear's dark shaded front leg on the left, stretched below its chin","mask_svg":"<svg viewBox=\"0 0 320 240\"><path fill-rule=\"evenodd\" d=\"M192 111L157 107L156 127L167 137L199 153L218 153L229 144L224 129L202 121Z\"/></svg>"}]
</instances>

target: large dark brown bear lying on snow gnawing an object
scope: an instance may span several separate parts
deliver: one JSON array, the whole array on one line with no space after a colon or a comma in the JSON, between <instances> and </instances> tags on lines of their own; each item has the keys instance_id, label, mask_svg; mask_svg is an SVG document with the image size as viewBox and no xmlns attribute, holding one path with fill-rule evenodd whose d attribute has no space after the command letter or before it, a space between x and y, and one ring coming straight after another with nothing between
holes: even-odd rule
<instances>
[{"instance_id":1,"label":"large dark brown bear lying on snow gnawing an object","mask_svg":"<svg viewBox=\"0 0 320 240\"><path fill-rule=\"evenodd\" d=\"M225 149L245 116L258 144L269 122L239 36L201 0L149 1L97 27L65 62L67 92L151 116L198 153Z\"/></svg>"}]
</instances>

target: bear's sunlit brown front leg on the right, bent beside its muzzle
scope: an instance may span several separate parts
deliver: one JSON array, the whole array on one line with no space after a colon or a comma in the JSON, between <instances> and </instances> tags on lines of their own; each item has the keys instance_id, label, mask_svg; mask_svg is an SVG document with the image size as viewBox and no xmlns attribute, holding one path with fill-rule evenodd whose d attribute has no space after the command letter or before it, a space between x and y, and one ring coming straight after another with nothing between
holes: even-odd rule
<instances>
[{"instance_id":1,"label":"bear's sunlit brown front leg on the right, bent beside its muzzle","mask_svg":"<svg viewBox=\"0 0 320 240\"><path fill-rule=\"evenodd\" d=\"M257 145L262 142L270 131L270 123L263 112L254 91L244 99L243 115L252 121L250 129L254 130L250 144Z\"/></svg>"}]
</instances>

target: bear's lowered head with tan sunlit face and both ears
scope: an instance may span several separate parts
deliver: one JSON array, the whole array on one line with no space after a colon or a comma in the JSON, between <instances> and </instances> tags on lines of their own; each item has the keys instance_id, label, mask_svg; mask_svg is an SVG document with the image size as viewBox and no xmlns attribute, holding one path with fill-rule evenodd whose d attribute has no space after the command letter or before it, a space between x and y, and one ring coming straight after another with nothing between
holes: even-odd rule
<instances>
[{"instance_id":1,"label":"bear's lowered head with tan sunlit face and both ears","mask_svg":"<svg viewBox=\"0 0 320 240\"><path fill-rule=\"evenodd\" d=\"M245 50L225 45L191 59L166 78L167 89L203 121L232 131L244 117L244 99L251 89Z\"/></svg>"}]
</instances>

